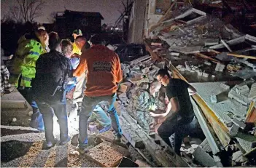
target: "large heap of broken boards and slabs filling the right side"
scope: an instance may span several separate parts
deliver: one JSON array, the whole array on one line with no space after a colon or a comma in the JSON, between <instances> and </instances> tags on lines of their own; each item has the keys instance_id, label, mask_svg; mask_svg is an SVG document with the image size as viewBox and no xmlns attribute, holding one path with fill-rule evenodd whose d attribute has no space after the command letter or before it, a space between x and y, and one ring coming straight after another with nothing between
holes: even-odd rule
<instances>
[{"instance_id":1,"label":"large heap of broken boards and slabs filling the right side","mask_svg":"<svg viewBox=\"0 0 256 168\"><path fill-rule=\"evenodd\" d=\"M150 28L150 38L145 42L152 57L171 63L174 77L197 89L196 103L222 147L228 150L227 145L236 141L245 156L255 150L256 37L184 5L170 7ZM201 148L196 149L201 153ZM185 146L182 150L191 154L194 149ZM200 159L203 166L212 166Z\"/></svg>"}]
</instances>

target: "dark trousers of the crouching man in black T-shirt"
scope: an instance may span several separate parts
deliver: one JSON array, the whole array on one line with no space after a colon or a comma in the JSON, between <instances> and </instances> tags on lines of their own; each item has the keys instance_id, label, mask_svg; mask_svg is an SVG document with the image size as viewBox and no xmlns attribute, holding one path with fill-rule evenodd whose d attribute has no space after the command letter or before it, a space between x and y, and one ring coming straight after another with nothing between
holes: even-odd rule
<instances>
[{"instance_id":1,"label":"dark trousers of the crouching man in black T-shirt","mask_svg":"<svg viewBox=\"0 0 256 168\"><path fill-rule=\"evenodd\" d=\"M197 129L197 119L195 116L191 119L178 120L177 116L172 119L166 119L158 128L158 135L171 147L169 137L174 135L174 151L180 155L182 140L187 135L190 135L194 129Z\"/></svg>"}]
</instances>

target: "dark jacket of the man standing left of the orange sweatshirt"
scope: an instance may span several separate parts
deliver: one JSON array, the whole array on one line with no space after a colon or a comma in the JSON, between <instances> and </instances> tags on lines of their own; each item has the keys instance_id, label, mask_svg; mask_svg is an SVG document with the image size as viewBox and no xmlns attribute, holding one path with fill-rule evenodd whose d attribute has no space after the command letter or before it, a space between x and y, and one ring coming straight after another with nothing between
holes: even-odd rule
<instances>
[{"instance_id":1,"label":"dark jacket of the man standing left of the orange sweatshirt","mask_svg":"<svg viewBox=\"0 0 256 168\"><path fill-rule=\"evenodd\" d=\"M66 83L72 77L70 60L61 52L53 49L40 55L36 61L36 76L32 82L35 99L51 102L64 100Z\"/></svg>"}]
</instances>

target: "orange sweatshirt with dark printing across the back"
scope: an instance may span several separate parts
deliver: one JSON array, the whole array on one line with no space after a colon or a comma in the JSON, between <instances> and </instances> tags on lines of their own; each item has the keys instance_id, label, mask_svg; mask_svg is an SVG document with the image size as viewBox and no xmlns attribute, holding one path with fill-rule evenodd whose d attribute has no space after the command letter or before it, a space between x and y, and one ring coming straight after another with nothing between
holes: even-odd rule
<instances>
[{"instance_id":1,"label":"orange sweatshirt with dark printing across the back","mask_svg":"<svg viewBox=\"0 0 256 168\"><path fill-rule=\"evenodd\" d=\"M117 83L123 79L119 57L103 45L96 45L83 52L75 76L87 73L85 95L89 97L112 95ZM80 74L79 74L80 73Z\"/></svg>"}]
</instances>

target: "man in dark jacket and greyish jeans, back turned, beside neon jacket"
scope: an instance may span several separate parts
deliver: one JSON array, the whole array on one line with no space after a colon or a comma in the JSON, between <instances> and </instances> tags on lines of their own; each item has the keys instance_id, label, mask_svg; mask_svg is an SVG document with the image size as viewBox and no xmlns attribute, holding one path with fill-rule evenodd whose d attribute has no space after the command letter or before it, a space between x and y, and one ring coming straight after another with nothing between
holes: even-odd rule
<instances>
[{"instance_id":1,"label":"man in dark jacket and greyish jeans, back turned, beside neon jacket","mask_svg":"<svg viewBox=\"0 0 256 168\"><path fill-rule=\"evenodd\" d=\"M47 148L53 147L56 140L53 135L53 116L60 125L60 145L70 141L66 113L66 84L73 77L71 63L61 52L61 39L58 33L50 33L50 52L39 57L36 62L36 76L32 89L36 103L42 113ZM72 45L66 47L66 55L71 55Z\"/></svg>"}]
</instances>

